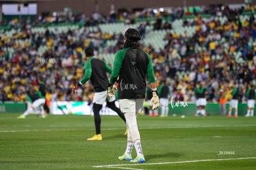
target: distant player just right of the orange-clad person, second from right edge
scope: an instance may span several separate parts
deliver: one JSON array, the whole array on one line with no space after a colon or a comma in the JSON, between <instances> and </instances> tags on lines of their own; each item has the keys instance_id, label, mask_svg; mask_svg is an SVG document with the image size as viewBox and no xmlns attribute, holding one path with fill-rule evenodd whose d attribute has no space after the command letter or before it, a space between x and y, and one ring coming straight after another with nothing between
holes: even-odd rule
<instances>
[{"instance_id":1,"label":"distant player just right of the orange-clad person, second from right edge","mask_svg":"<svg viewBox=\"0 0 256 170\"><path fill-rule=\"evenodd\" d=\"M234 117L237 118L237 105L238 105L238 89L236 87L236 83L233 83L232 84L232 88L233 88L233 91L231 92L232 94L232 99L229 103L229 110L228 110L228 115L227 117L230 118L231 117L231 112L232 112L232 109L234 108L235 109L235 113L234 113Z\"/></svg>"}]
</instances>

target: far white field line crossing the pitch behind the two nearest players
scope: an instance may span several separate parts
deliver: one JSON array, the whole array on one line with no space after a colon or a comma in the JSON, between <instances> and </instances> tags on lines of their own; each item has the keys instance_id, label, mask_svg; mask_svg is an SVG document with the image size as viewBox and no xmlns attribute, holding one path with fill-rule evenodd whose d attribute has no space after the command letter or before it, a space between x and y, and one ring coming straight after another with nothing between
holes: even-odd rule
<instances>
[{"instance_id":1,"label":"far white field line crossing the pitch behind the two nearest players","mask_svg":"<svg viewBox=\"0 0 256 170\"><path fill-rule=\"evenodd\" d=\"M164 126L152 126L152 127L140 127L140 129L177 129L177 128L206 128L206 127L254 127L256 124L244 124L244 125L234 125L234 126L226 126L226 125L192 125L188 124L187 126L173 126L173 127L164 127ZM2 127L9 127L9 126L2 126ZM38 126L30 126L30 125L24 125L24 126L12 126L12 127L38 127ZM24 130L0 130L0 133L7 133L7 132L44 132L44 131L76 131L77 129L61 129L62 127L71 127L71 126L49 126L49 127L59 127L60 129L24 129ZM74 127L74 126L72 126ZM82 127L82 126L75 126L75 127ZM87 126L85 126L87 127ZM1 126L0 126L1 129ZM116 131L120 128L102 128L105 131Z\"/></svg>"}]
</instances>

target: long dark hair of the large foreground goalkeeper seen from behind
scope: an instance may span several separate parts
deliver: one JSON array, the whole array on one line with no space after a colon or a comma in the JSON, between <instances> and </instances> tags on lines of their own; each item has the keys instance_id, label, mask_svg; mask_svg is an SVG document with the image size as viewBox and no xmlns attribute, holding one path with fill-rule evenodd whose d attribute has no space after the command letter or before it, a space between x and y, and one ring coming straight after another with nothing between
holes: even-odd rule
<instances>
[{"instance_id":1,"label":"long dark hair of the large foreground goalkeeper seen from behind","mask_svg":"<svg viewBox=\"0 0 256 170\"><path fill-rule=\"evenodd\" d=\"M124 48L126 47L139 48L138 41L141 39L141 36L138 30L134 28L128 28L128 30L126 30L126 33L124 33L124 37L126 38L126 42L124 43Z\"/></svg>"}]
</instances>

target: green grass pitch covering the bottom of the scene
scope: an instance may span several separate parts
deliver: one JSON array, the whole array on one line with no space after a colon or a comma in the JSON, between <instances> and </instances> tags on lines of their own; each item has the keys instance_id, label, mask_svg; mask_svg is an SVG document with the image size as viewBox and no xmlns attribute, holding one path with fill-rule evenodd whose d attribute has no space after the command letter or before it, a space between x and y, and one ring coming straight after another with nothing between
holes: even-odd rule
<instances>
[{"instance_id":1,"label":"green grass pitch covering the bottom of the scene","mask_svg":"<svg viewBox=\"0 0 256 170\"><path fill-rule=\"evenodd\" d=\"M256 117L137 118L146 163L119 161L124 122L101 116L0 114L0 169L256 169ZM135 149L132 153L135 158Z\"/></svg>"}]
</instances>

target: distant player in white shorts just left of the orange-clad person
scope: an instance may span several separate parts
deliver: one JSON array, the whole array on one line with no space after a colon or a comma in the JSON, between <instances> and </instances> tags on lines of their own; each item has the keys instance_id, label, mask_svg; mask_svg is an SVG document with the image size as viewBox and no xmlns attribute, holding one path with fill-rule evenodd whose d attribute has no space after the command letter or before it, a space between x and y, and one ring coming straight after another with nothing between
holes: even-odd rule
<instances>
[{"instance_id":1,"label":"distant player in white shorts just left of the orange-clad person","mask_svg":"<svg viewBox=\"0 0 256 170\"><path fill-rule=\"evenodd\" d=\"M207 99L205 98L205 93L207 89L206 87L203 87L203 82L200 81L197 83L197 86L195 88L195 95L197 95L197 102L196 105L198 106L198 110L196 113L196 116L206 116L205 113L205 106L207 105Z\"/></svg>"}]
</instances>

